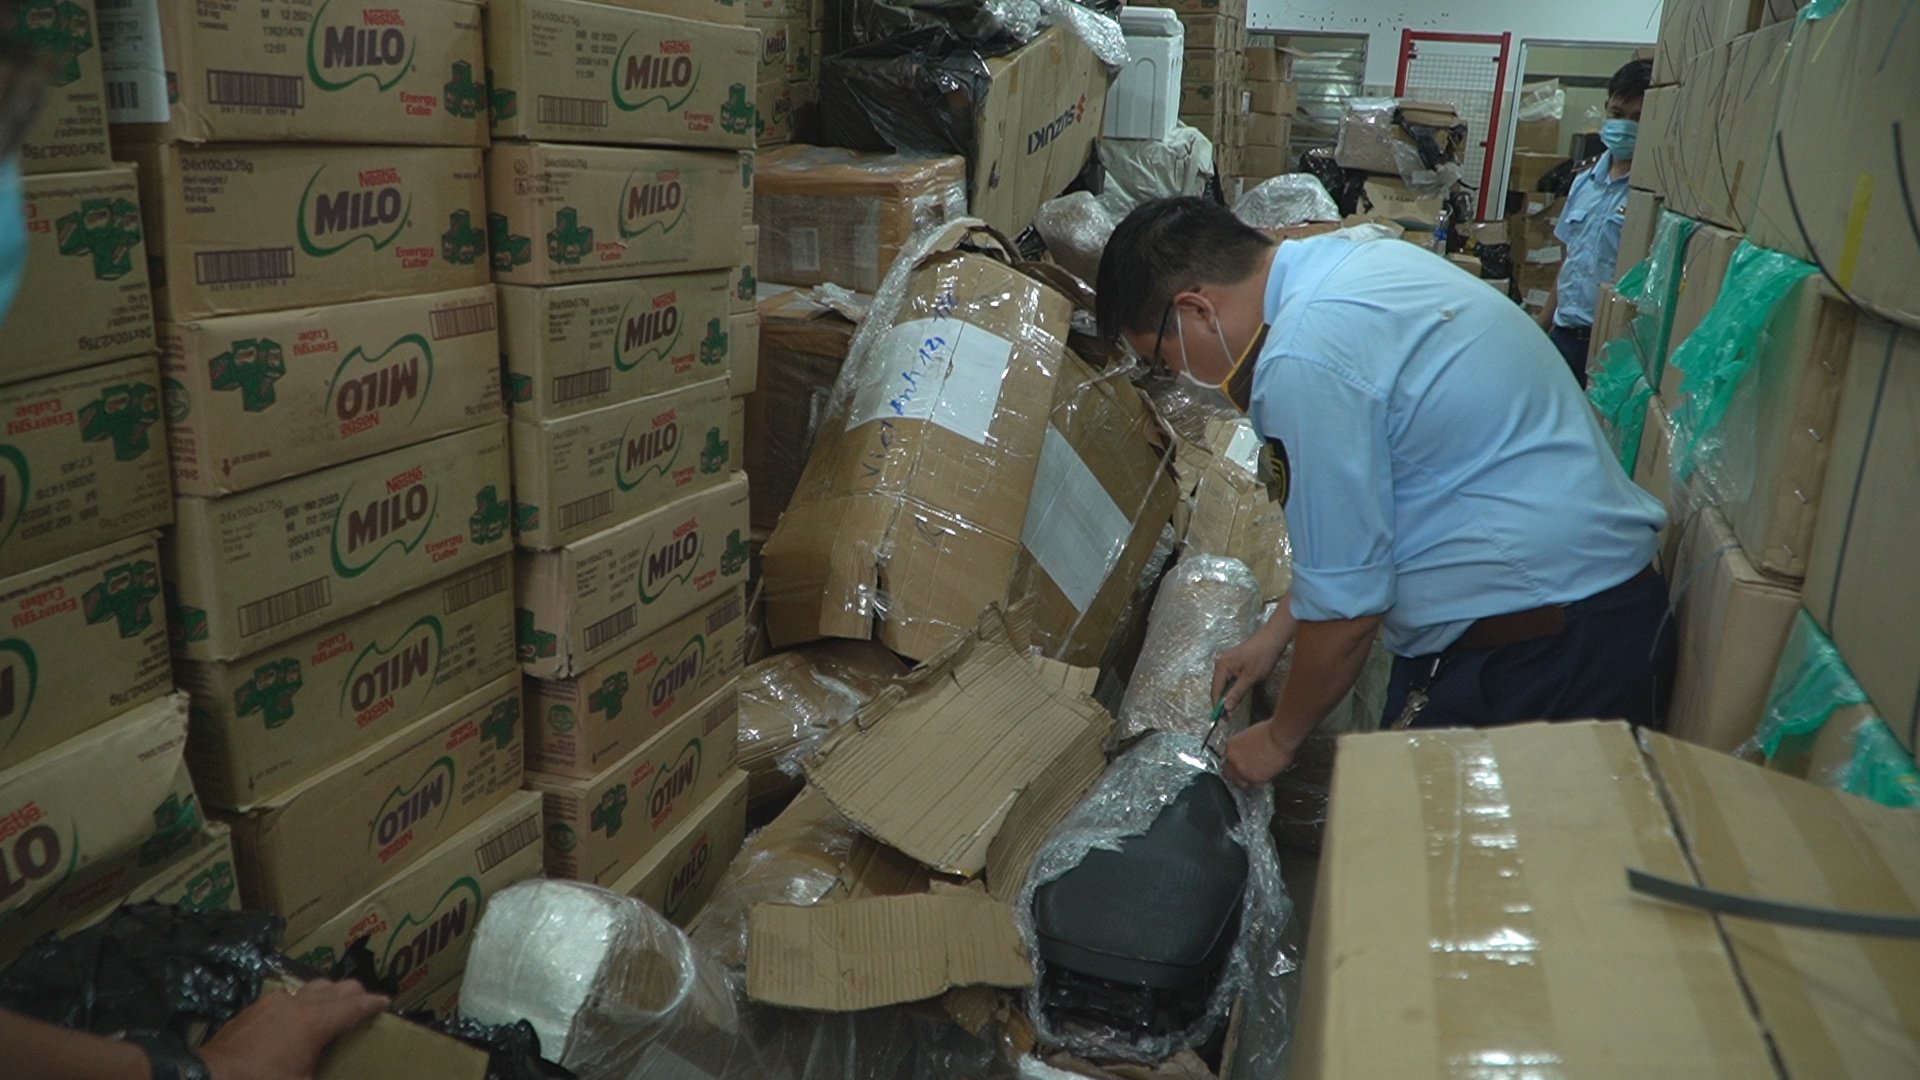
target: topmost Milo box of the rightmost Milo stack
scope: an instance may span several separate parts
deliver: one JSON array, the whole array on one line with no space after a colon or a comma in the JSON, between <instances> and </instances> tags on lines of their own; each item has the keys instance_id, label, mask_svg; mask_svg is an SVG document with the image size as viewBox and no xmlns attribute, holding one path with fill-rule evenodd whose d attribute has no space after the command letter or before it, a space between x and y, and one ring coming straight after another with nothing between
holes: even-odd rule
<instances>
[{"instance_id":1,"label":"topmost Milo box of the rightmost Milo stack","mask_svg":"<svg viewBox=\"0 0 1920 1080\"><path fill-rule=\"evenodd\" d=\"M492 0L495 138L753 146L755 31L580 0Z\"/></svg>"}]
</instances>

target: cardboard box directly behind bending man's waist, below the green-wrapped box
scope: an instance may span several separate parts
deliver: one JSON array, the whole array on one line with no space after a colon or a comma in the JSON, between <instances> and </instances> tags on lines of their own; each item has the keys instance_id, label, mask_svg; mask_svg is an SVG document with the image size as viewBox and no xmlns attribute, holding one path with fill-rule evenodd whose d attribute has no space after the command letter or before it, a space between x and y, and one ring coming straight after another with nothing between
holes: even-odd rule
<instances>
[{"instance_id":1,"label":"cardboard box directly behind bending man's waist, below the green-wrapped box","mask_svg":"<svg viewBox=\"0 0 1920 1080\"><path fill-rule=\"evenodd\" d=\"M1799 611L1799 588L1755 569L1726 517L1707 507L1684 525L1672 590L1680 667L1667 730L1730 751L1766 713L1772 661Z\"/></svg>"}]
</instances>

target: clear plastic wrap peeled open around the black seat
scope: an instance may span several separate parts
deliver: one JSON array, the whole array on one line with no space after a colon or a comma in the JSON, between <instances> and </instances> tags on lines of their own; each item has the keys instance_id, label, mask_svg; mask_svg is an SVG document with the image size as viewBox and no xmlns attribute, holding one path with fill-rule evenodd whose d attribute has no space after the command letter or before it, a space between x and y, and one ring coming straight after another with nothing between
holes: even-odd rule
<instances>
[{"instance_id":1,"label":"clear plastic wrap peeled open around the black seat","mask_svg":"<svg viewBox=\"0 0 1920 1080\"><path fill-rule=\"evenodd\" d=\"M1204 736L1160 732L1116 759L1085 799L1054 828L1027 871L1020 888L1014 917L1027 942L1035 965L1035 986L1044 976L1039 959L1039 930L1033 919L1035 892L1081 865L1089 851L1114 849L1119 840L1144 834L1154 819L1194 778L1215 771L1213 751ZM1027 994L1027 1019L1046 1047L1066 1049L1092 1059L1158 1063L1183 1049L1204 1045L1227 1022L1238 1001L1242 1009L1240 1040L1229 1063L1236 1076L1275 1076L1281 1057L1292 1038L1292 1015L1281 990L1281 976L1294 961L1281 947L1292 899L1281 880L1279 855L1267 822L1273 817L1273 796L1261 786L1233 790L1240 822L1233 828L1235 842L1246 849L1248 880L1240 936L1233 945L1227 970L1208 999L1206 1015L1188 1030L1158 1038L1135 1040L1119 1032L1056 1030L1039 1007L1037 994ZM1142 888L1152 888L1142 882Z\"/></svg>"}]
</instances>

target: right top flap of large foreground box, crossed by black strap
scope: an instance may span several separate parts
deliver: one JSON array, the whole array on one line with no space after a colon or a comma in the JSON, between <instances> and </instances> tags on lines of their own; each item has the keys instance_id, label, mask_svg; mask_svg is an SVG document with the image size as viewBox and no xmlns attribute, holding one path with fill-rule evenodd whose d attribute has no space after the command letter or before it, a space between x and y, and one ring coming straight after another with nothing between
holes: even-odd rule
<instances>
[{"instance_id":1,"label":"right top flap of large foreground box, crossed by black strap","mask_svg":"<svg viewBox=\"0 0 1920 1080\"><path fill-rule=\"evenodd\" d=\"M1644 742L1701 886L1920 915L1920 815L1661 734ZM1789 1076L1920 1076L1920 942L1718 922Z\"/></svg>"}]
</instances>

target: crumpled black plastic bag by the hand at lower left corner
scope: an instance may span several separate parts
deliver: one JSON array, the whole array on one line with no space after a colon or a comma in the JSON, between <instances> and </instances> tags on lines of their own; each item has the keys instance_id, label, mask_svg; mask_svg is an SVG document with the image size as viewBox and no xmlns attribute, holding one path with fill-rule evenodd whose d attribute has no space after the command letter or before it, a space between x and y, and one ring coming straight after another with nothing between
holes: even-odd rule
<instances>
[{"instance_id":1,"label":"crumpled black plastic bag by the hand at lower left corner","mask_svg":"<svg viewBox=\"0 0 1920 1080\"><path fill-rule=\"evenodd\" d=\"M252 1005L273 974L286 924L257 911L121 907L69 938L48 934L0 970L0 1007L63 1028L205 1042Z\"/></svg>"}]
</instances>

